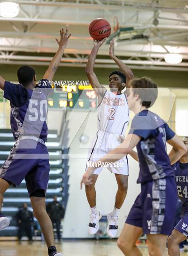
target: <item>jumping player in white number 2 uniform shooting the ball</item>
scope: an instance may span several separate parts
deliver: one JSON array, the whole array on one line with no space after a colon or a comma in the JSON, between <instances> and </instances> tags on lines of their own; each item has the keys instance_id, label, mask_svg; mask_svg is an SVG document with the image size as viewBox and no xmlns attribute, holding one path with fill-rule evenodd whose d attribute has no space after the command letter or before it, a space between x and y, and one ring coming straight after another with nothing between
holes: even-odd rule
<instances>
[{"instance_id":1,"label":"jumping player in white number 2 uniform shooting the ball","mask_svg":"<svg viewBox=\"0 0 188 256\"><path fill-rule=\"evenodd\" d=\"M98 96L98 132L94 138L92 146L90 147L86 169L121 143L121 136L124 136L128 125L129 109L126 95L125 93L122 93L122 90L134 75L130 68L115 56L114 39L112 39L110 43L109 55L118 67L120 67L121 72L113 71L110 73L110 91L99 83L98 78L94 73L94 63L98 49L103 45L105 40L106 39L102 41L94 40L94 47L86 65L87 77L93 90ZM114 238L118 229L117 222L119 211L128 189L128 159L127 157L124 157L123 159L120 159L119 162L107 166L107 168L115 174L118 184L114 209L107 214L107 233L110 237ZM95 191L95 182L102 170L103 167L96 169L93 174L93 184L85 186L85 193L91 208L89 234L97 233L99 227L98 221L102 217L102 212L96 207Z\"/></svg>"}]
</instances>

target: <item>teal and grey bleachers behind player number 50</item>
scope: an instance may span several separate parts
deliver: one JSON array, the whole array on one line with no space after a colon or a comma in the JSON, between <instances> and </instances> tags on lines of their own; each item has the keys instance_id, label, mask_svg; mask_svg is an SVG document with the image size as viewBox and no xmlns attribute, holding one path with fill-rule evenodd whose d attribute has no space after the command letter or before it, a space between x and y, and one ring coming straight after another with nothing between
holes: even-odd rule
<instances>
[{"instance_id":1,"label":"teal and grey bleachers behind player number 50","mask_svg":"<svg viewBox=\"0 0 188 256\"><path fill-rule=\"evenodd\" d=\"M63 154L68 154L68 149L66 149L67 139L68 129L64 127L61 135L57 134L57 130L49 130L46 143L51 167L46 201L52 201L53 196L57 195L58 201L63 204L65 210L68 201L68 159L64 159ZM14 139L11 130L0 129L0 166L3 165L8 157L13 144ZM29 210L32 211L25 180L22 181L19 187L10 187L4 193L2 211L4 215L9 217L10 225L7 229L0 232L0 236L17 236L17 220L15 215L23 202L26 202ZM37 220L34 218L34 221L36 222Z\"/></svg>"}]
</instances>

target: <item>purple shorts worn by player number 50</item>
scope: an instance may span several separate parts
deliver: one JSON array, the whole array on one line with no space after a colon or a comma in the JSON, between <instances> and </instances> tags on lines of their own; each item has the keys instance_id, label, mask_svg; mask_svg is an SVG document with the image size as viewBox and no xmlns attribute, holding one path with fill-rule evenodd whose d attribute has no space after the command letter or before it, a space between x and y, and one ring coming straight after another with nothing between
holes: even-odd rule
<instances>
[{"instance_id":1,"label":"purple shorts worn by player number 50","mask_svg":"<svg viewBox=\"0 0 188 256\"><path fill-rule=\"evenodd\" d=\"M46 192L49 172L47 147L33 139L18 139L0 168L0 178L17 186L25 178L28 193L31 194L38 189Z\"/></svg>"}]
</instances>

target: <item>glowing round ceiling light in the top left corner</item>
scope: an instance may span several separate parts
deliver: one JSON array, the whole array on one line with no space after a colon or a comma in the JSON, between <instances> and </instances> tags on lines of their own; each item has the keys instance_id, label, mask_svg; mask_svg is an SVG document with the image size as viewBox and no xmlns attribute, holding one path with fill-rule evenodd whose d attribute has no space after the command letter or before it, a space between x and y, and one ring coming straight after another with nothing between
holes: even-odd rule
<instances>
[{"instance_id":1,"label":"glowing round ceiling light in the top left corner","mask_svg":"<svg viewBox=\"0 0 188 256\"><path fill-rule=\"evenodd\" d=\"M19 4L13 2L0 3L0 16L4 18L13 18L18 15L20 11Z\"/></svg>"}]
</instances>

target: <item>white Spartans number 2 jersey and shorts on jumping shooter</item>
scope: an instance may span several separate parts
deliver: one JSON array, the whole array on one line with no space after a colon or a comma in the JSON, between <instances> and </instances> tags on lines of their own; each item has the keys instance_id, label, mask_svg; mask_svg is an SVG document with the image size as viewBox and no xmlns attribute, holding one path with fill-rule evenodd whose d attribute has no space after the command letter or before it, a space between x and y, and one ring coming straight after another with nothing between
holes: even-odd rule
<instances>
[{"instance_id":1,"label":"white Spartans number 2 jersey and shorts on jumping shooter","mask_svg":"<svg viewBox=\"0 0 188 256\"><path fill-rule=\"evenodd\" d=\"M117 95L106 91L98 106L98 131L90 145L86 169L122 143L122 136L128 125L128 115L125 94ZM107 167L113 173L128 175L127 156L108 164L110 165L97 168L94 174L99 175L103 167Z\"/></svg>"}]
</instances>

